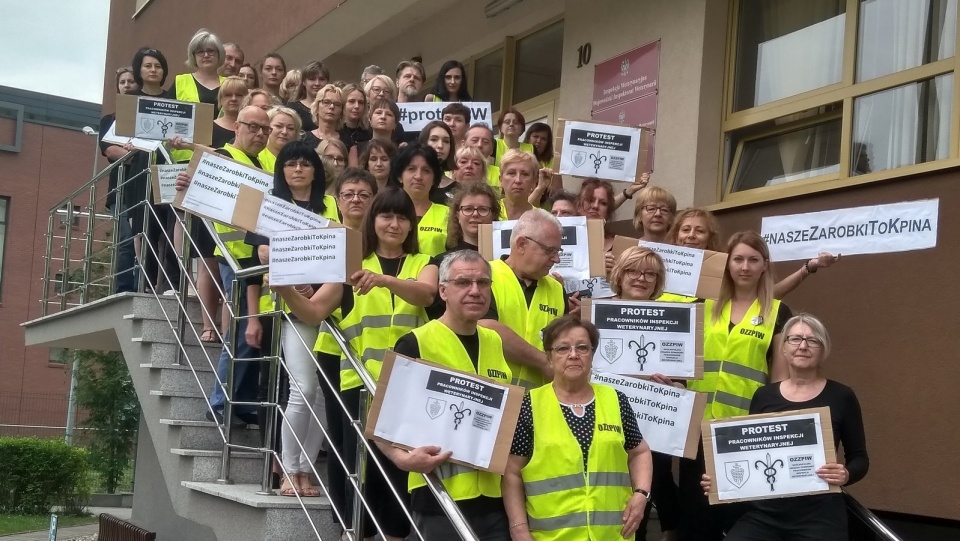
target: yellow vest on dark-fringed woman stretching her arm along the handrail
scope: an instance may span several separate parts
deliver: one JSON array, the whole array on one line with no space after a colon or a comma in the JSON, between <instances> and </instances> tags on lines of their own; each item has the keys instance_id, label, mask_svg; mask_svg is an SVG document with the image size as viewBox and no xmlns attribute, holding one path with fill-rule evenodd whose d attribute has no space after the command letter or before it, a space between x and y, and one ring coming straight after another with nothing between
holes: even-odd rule
<instances>
[{"instance_id":1,"label":"yellow vest on dark-fringed woman stretching her arm along the handrail","mask_svg":"<svg viewBox=\"0 0 960 541\"><path fill-rule=\"evenodd\" d=\"M420 271L430 264L426 254L407 254L400 265L400 280L416 280ZM383 274L377 254L363 260L363 269ZM383 354L392 349L397 340L427 322L427 312L390 293L385 287L375 287L366 295L354 295L353 310L344 316L341 328L353 351L373 376L380 377ZM363 385L359 374L345 357L340 361L340 390Z\"/></svg>"}]
</instances>

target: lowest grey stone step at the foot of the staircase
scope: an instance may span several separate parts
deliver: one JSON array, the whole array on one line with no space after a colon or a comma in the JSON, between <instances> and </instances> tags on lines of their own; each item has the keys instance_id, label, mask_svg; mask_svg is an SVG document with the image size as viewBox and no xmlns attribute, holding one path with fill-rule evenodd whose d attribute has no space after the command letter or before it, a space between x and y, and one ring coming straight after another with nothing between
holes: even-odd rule
<instances>
[{"instance_id":1,"label":"lowest grey stone step at the foot of the staircase","mask_svg":"<svg viewBox=\"0 0 960 541\"><path fill-rule=\"evenodd\" d=\"M330 503L323 496L300 499L261 496L256 493L260 489L259 485L249 484L222 485L193 481L184 481L181 484L204 497L243 506L247 513L261 513L265 540L338 539L340 535L341 529L333 522L332 513L329 511Z\"/></svg>"}]
</instances>

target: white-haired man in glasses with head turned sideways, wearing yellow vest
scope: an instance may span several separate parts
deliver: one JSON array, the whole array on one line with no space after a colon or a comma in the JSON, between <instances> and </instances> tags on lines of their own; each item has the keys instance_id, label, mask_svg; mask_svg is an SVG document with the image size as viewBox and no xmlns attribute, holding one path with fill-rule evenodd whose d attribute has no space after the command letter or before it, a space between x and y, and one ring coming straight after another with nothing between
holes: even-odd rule
<instances>
[{"instance_id":1,"label":"white-haired man in glasses with head turned sideways, wearing yellow vest","mask_svg":"<svg viewBox=\"0 0 960 541\"><path fill-rule=\"evenodd\" d=\"M512 383L528 389L552 379L540 331L567 311L563 285L550 276L561 234L556 217L529 210L510 235L510 255L491 263L493 297L480 325L500 335Z\"/></svg>"}]
</instances>

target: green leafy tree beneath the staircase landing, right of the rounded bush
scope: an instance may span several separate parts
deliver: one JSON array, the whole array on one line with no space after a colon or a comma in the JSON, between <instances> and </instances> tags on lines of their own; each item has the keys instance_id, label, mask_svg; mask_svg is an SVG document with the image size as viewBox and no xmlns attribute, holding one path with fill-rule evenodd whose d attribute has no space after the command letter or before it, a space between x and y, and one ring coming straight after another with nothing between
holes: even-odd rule
<instances>
[{"instance_id":1,"label":"green leafy tree beneath the staircase landing, right of the rounded bush","mask_svg":"<svg viewBox=\"0 0 960 541\"><path fill-rule=\"evenodd\" d=\"M113 494L132 458L140 422L140 403L123 356L118 352L79 350L77 407L87 416L81 425L93 428L88 444L91 467Z\"/></svg>"}]
</instances>

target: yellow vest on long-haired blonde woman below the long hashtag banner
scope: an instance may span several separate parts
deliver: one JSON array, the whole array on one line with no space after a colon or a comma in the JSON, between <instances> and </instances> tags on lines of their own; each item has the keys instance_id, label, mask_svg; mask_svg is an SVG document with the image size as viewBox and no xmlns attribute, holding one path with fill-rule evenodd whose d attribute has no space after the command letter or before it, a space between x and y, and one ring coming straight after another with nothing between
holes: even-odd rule
<instances>
[{"instance_id":1,"label":"yellow vest on long-haired blonde woman below the long hashtag banner","mask_svg":"<svg viewBox=\"0 0 960 541\"><path fill-rule=\"evenodd\" d=\"M707 393L706 420L750 412L753 394L770 379L767 350L780 311L780 301L774 299L770 314L754 324L759 321L755 318L760 318L760 302L753 301L740 323L730 330L730 302L712 321L714 303L707 299L703 307L703 379L687 382L688 389Z\"/></svg>"}]
</instances>

